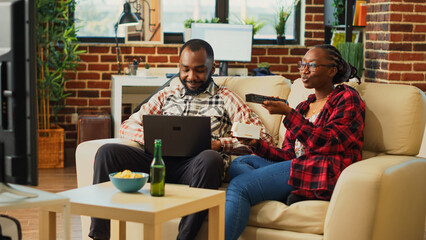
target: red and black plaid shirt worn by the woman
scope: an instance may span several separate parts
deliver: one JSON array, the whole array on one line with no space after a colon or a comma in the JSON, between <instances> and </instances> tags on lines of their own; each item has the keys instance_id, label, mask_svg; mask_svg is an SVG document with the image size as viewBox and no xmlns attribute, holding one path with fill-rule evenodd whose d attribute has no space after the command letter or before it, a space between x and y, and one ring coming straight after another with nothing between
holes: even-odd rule
<instances>
[{"instance_id":1,"label":"red and black plaid shirt worn by the woman","mask_svg":"<svg viewBox=\"0 0 426 240\"><path fill-rule=\"evenodd\" d=\"M361 160L365 104L355 89L339 85L311 123L304 114L313 101L314 94L286 116L281 149L260 141L256 154L273 161L292 160L289 184L296 188L293 193L329 200L343 169ZM294 152L296 139L305 146L305 154L299 158Z\"/></svg>"}]
</instances>

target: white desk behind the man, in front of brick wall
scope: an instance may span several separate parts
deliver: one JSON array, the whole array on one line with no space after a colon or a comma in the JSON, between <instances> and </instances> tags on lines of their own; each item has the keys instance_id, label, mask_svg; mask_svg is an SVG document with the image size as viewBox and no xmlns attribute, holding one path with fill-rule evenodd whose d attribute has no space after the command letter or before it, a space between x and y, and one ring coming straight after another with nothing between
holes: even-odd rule
<instances>
[{"instance_id":1,"label":"white desk behind the man, in front of brick wall","mask_svg":"<svg viewBox=\"0 0 426 240\"><path fill-rule=\"evenodd\" d=\"M157 76L112 76L111 87L111 117L113 122L113 137L120 137L122 104L124 102L141 103L157 88L167 82L166 77ZM130 88L131 87L131 88ZM123 95L132 97L123 100Z\"/></svg>"}]
</instances>

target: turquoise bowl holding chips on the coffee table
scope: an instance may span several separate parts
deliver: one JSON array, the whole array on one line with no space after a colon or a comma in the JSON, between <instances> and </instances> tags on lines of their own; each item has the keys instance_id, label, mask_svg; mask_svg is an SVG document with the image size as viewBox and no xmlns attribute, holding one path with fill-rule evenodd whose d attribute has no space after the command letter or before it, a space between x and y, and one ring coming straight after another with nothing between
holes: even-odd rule
<instances>
[{"instance_id":1,"label":"turquoise bowl holding chips on the coffee table","mask_svg":"<svg viewBox=\"0 0 426 240\"><path fill-rule=\"evenodd\" d=\"M149 175L147 173L143 172L133 172L136 174L142 175L142 177L136 177L136 178L119 178L114 177L117 173L110 173L109 179L111 180L112 184L120 191L125 193L134 193L139 191L145 183L148 181Z\"/></svg>"}]
</instances>

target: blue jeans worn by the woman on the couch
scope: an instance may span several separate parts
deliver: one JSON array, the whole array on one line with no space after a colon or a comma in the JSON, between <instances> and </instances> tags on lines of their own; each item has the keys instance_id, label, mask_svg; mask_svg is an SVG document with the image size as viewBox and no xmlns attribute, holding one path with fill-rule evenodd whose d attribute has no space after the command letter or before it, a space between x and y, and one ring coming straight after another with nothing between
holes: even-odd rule
<instances>
[{"instance_id":1,"label":"blue jeans worn by the woman on the couch","mask_svg":"<svg viewBox=\"0 0 426 240\"><path fill-rule=\"evenodd\" d=\"M265 200L285 202L294 188L288 184L291 161L271 162L255 155L235 159L226 190L225 240L238 239L246 227L250 208Z\"/></svg>"}]
</instances>

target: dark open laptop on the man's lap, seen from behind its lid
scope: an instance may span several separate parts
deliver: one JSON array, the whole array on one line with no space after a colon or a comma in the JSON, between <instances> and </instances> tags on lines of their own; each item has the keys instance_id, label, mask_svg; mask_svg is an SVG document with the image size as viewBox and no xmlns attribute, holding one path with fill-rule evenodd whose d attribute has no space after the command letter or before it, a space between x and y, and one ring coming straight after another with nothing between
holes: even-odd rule
<instances>
[{"instance_id":1,"label":"dark open laptop on the man's lap, seen from behind its lid","mask_svg":"<svg viewBox=\"0 0 426 240\"><path fill-rule=\"evenodd\" d=\"M211 149L210 117L144 115L145 152L154 154L154 140L162 141L162 156L193 157Z\"/></svg>"}]
</instances>

